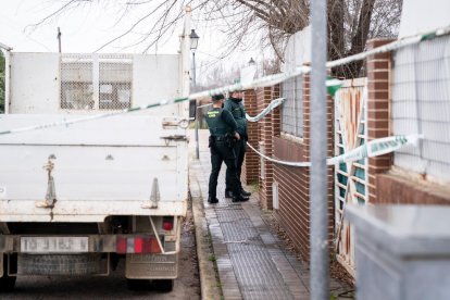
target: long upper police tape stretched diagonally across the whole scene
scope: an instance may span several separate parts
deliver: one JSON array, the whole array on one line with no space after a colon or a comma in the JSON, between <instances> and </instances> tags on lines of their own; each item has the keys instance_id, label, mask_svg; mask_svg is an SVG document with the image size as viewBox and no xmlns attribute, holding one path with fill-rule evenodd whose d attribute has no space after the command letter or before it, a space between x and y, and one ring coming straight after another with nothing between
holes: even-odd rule
<instances>
[{"instance_id":1,"label":"long upper police tape stretched diagonally across the whole scene","mask_svg":"<svg viewBox=\"0 0 450 300\"><path fill-rule=\"evenodd\" d=\"M424 40L429 40L429 39L433 39L433 38L436 38L436 37L439 37L439 36L443 36L443 35L447 35L449 33L450 33L450 25L437 28L437 29L435 29L433 32L429 32L429 33L426 33L426 34L416 35L416 36L413 36L413 37L403 38L401 40L392 41L392 42L387 43L385 46L377 47L377 48L374 48L372 50L367 50L367 51L364 51L364 52L361 52L361 53L358 53L358 54L354 54L354 55L350 55L350 57L347 57L347 58L343 58L343 59L327 62L326 67L334 67L334 66L347 64L347 63L350 63L350 62L353 62L353 61L363 60L363 59L365 59L370 55L393 51L393 50L397 50L397 49L400 49L400 48L403 48L403 47L407 47L407 46L410 46L410 45L418 43L418 42L424 41ZM205 91L201 91L201 92L195 92L195 93L191 93L188 97L184 97L184 98L175 98L175 99L171 99L171 100L163 100L163 101L160 101L160 102L157 102L157 103L151 103L151 104L141 105L141 107L137 107L137 108L125 109L125 110L117 111L117 112L110 112L110 113L103 113L103 114L96 114L96 115L91 115L91 116L78 117L78 118L74 118L74 120L71 120L71 121L52 122L52 123L46 123L46 124L28 126L28 127L23 127L23 128L3 130L3 132L0 132L0 135L8 135L8 134L29 132L29 130L45 129L45 128L57 127L57 126L68 126L68 125L75 124L75 123L92 121L92 120L96 120L96 118L110 117L110 116L114 116L114 115L148 110L148 109L158 108L158 107L162 107L162 105L179 103L179 102L187 101L187 100L190 100L190 99L199 99L199 98L203 98L203 97L211 97L211 96L214 96L214 95L230 92L230 91L235 91L235 90L245 90L245 89L251 89L251 88L258 88L258 87L272 86L272 85L279 84L279 83L282 83L286 79L299 76L301 74L308 74L310 72L311 72L311 67L307 66L307 65L303 65L303 66L300 66L300 67L296 68L292 72L278 73L278 74L257 78L257 79L253 79L253 80L251 80L249 83L245 83L245 84L234 84L234 85L228 85L228 86L221 87L221 88L210 89L210 90L205 90Z\"/></svg>"}]
</instances>

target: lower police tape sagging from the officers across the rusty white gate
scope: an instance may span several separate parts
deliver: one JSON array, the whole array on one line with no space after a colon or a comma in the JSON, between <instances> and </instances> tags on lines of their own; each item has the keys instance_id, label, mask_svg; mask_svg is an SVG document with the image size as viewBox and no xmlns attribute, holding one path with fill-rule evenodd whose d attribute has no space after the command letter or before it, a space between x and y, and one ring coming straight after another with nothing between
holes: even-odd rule
<instances>
[{"instance_id":1,"label":"lower police tape sagging from the officers across the rusty white gate","mask_svg":"<svg viewBox=\"0 0 450 300\"><path fill-rule=\"evenodd\" d=\"M418 142L418 139L423 138L421 135L398 135L398 136L390 136L385 138L378 138L368 141L365 145L362 145L355 149L350 150L349 152L329 158L326 160L327 165L335 165L339 163L346 163L346 162L353 162L359 161L365 158L374 158L383 154L387 154L390 152L393 152L396 150L399 150L400 148L407 146L407 145L414 145L416 146ZM264 155L257 149L254 149L249 142L247 145L257 152L260 157L263 159L277 163L283 165L289 165L289 166L311 166L311 162L287 162L287 161L280 161L273 158L270 158L267 155Z\"/></svg>"}]
</instances>

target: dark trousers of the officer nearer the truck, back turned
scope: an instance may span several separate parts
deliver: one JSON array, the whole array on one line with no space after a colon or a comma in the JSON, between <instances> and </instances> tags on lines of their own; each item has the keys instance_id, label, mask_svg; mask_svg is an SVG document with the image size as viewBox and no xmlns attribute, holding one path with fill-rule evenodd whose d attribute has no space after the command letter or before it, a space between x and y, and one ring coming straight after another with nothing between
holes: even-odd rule
<instances>
[{"instance_id":1,"label":"dark trousers of the officer nearer the truck, back turned","mask_svg":"<svg viewBox=\"0 0 450 300\"><path fill-rule=\"evenodd\" d=\"M233 148L228 148L224 141L215 141L211 151L211 175L209 184L209 196L216 197L217 177L221 172L222 162L226 164L226 178L229 180L229 190L238 192L241 190L240 180L237 176L236 155Z\"/></svg>"}]
</instances>

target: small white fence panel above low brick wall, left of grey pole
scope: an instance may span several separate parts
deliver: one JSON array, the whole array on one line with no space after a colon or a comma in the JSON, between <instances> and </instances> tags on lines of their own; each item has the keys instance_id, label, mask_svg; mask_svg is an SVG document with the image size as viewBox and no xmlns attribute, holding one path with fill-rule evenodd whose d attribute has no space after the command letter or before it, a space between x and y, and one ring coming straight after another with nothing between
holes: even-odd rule
<instances>
[{"instance_id":1,"label":"small white fence panel above low brick wall, left of grey pole","mask_svg":"<svg viewBox=\"0 0 450 300\"><path fill-rule=\"evenodd\" d=\"M282 132L303 137L303 77L287 79L282 85Z\"/></svg>"}]
</instances>

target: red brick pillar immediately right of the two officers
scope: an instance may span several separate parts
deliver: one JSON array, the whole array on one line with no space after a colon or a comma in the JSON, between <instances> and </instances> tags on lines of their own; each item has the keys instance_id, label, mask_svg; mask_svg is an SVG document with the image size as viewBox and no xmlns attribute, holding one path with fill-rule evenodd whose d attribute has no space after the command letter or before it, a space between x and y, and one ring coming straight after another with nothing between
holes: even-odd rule
<instances>
[{"instance_id":1,"label":"red brick pillar immediately right of the two officers","mask_svg":"<svg viewBox=\"0 0 450 300\"><path fill-rule=\"evenodd\" d=\"M254 89L248 89L243 91L243 103L246 111L250 116L258 114L257 92ZM249 143L258 149L259 130L258 123L248 122L247 126L249 135ZM253 150L249 149L246 152L246 159L242 164L242 173L240 179L242 184L250 185L259 183L260 178L260 158Z\"/></svg>"}]
</instances>

